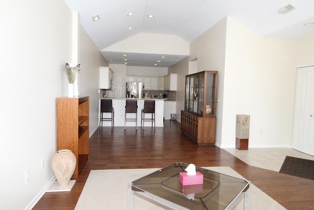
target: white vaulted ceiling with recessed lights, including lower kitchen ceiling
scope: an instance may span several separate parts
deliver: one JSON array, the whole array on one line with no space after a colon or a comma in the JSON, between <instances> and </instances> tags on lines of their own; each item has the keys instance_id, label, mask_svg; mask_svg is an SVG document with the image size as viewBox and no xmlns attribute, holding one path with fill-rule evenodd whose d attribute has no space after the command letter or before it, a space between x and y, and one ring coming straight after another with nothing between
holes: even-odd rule
<instances>
[{"instance_id":1,"label":"white vaulted ceiling with recessed lights, including lower kitchen ceiling","mask_svg":"<svg viewBox=\"0 0 314 210\"><path fill-rule=\"evenodd\" d=\"M226 16L233 17L261 36L299 38L314 34L314 0L64 0L78 11L81 26L99 50L138 33L177 35L192 42ZM292 4L288 14L278 9ZM132 16L128 13L134 12ZM92 16L99 15L94 22ZM148 18L148 15L154 18ZM127 30L129 27L132 30ZM103 52L109 63L122 63L124 52ZM160 55L128 53L128 65L152 66ZM169 57L169 60L168 60ZM183 56L169 55L162 60L168 67ZM110 61L112 60L112 61Z\"/></svg>"}]
</instances>

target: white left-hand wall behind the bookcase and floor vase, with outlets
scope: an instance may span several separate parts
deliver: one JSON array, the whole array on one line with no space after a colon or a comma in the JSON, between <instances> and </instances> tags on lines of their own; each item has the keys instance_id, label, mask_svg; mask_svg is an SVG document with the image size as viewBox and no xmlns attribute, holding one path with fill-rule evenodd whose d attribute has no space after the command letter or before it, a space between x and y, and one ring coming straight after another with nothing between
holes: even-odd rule
<instances>
[{"instance_id":1,"label":"white left-hand wall behind the bookcase and floor vase, with outlets","mask_svg":"<svg viewBox=\"0 0 314 210\"><path fill-rule=\"evenodd\" d=\"M67 92L62 66L74 56L72 12L63 0L1 1L0 26L0 209L30 209L53 180L56 97ZM93 100L94 91L98 97L98 85L92 84L98 72L93 66L100 66L104 58L98 49L92 50L96 58L87 58L93 48L86 46L91 44L87 40L83 34L80 48L87 51L80 54L79 86L80 93ZM91 114L91 127L97 122L94 118ZM26 170L30 171L28 183Z\"/></svg>"}]
</instances>

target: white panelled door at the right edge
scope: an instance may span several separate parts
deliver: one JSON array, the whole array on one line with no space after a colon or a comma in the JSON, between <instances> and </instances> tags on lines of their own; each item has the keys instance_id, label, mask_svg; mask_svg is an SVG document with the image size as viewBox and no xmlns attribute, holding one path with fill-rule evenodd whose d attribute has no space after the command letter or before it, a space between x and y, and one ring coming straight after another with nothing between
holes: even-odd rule
<instances>
[{"instance_id":1,"label":"white panelled door at the right edge","mask_svg":"<svg viewBox=\"0 0 314 210\"><path fill-rule=\"evenodd\" d=\"M314 66L297 69L292 148L314 155Z\"/></svg>"}]
</instances>

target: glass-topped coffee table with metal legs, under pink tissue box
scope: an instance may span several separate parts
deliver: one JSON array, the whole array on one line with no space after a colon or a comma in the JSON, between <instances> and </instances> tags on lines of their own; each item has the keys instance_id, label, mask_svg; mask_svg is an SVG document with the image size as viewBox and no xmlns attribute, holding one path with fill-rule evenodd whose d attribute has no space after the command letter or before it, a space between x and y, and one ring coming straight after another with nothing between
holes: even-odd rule
<instances>
[{"instance_id":1,"label":"glass-topped coffee table with metal legs, under pink tissue box","mask_svg":"<svg viewBox=\"0 0 314 210\"><path fill-rule=\"evenodd\" d=\"M176 210L231 210L244 196L243 209L249 209L250 181L196 167L203 184L183 186L179 173L188 165L173 163L129 183L128 209L133 210L134 193Z\"/></svg>"}]
</instances>

